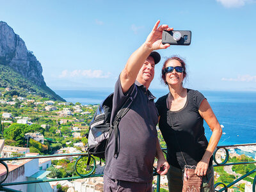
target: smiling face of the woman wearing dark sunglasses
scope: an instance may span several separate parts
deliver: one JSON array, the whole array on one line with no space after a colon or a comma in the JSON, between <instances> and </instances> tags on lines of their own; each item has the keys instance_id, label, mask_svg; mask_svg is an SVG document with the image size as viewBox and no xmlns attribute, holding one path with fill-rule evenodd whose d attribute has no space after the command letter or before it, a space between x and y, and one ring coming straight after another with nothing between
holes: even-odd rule
<instances>
[{"instance_id":1,"label":"smiling face of the woman wearing dark sunglasses","mask_svg":"<svg viewBox=\"0 0 256 192\"><path fill-rule=\"evenodd\" d=\"M166 64L166 67L177 67L177 66L182 67L181 63L178 60L170 60ZM168 85L182 86L182 81L184 79L183 72L179 73L174 68L172 72L165 74L165 79L166 79L166 82L168 83Z\"/></svg>"}]
</instances>

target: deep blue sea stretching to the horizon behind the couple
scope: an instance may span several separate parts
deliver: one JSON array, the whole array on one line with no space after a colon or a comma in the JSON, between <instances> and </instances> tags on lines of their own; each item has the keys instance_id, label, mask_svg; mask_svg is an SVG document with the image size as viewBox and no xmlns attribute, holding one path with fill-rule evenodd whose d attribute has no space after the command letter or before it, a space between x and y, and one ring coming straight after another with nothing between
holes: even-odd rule
<instances>
[{"instance_id":1,"label":"deep blue sea stretching to the horizon behind the couple","mask_svg":"<svg viewBox=\"0 0 256 192\"><path fill-rule=\"evenodd\" d=\"M168 90L150 90L157 99ZM99 104L113 89L56 90L68 102ZM256 92L201 91L211 105L218 121L223 125L223 135L218 145L256 143ZM204 122L205 136L211 137L211 129Z\"/></svg>"}]
</instances>

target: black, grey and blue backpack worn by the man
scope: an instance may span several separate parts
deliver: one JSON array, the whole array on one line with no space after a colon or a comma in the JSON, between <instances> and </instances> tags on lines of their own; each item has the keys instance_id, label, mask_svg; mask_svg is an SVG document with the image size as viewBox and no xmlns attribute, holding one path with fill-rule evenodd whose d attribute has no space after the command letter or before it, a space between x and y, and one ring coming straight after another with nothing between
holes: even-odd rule
<instances>
[{"instance_id":1,"label":"black, grey and blue backpack worn by the man","mask_svg":"<svg viewBox=\"0 0 256 192\"><path fill-rule=\"evenodd\" d=\"M122 108L116 113L115 120L110 125L111 111L113 108L113 95L111 93L105 100L102 101L97 108L92 121L90 122L88 134L88 154L100 159L105 159L105 150L108 145L108 140L112 132L115 133L115 154L118 157L118 124L131 108L132 101L136 97L137 87L132 90L131 96L125 101Z\"/></svg>"}]
</instances>

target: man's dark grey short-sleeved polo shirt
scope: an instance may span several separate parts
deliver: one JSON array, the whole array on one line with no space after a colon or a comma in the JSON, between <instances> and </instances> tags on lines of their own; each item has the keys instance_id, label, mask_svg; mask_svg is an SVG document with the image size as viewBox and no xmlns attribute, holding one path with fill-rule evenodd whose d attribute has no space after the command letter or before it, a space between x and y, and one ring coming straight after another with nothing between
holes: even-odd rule
<instances>
[{"instance_id":1,"label":"man's dark grey short-sleeved polo shirt","mask_svg":"<svg viewBox=\"0 0 256 192\"><path fill-rule=\"evenodd\" d=\"M116 112L132 90L137 94L131 109L121 119L118 126L118 157L115 158L115 134L111 134L106 148L106 168L104 174L111 179L131 182L149 182L153 179L153 163L156 156L156 125L158 121L154 97L145 86L137 81L127 93L122 92L120 77L115 85L111 123Z\"/></svg>"}]
</instances>

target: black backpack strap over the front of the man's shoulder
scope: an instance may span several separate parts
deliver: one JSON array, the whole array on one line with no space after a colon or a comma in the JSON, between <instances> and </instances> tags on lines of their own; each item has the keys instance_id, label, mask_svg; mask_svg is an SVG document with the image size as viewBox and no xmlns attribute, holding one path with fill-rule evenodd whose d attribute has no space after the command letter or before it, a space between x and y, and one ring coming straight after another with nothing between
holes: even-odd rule
<instances>
[{"instance_id":1,"label":"black backpack strap over the front of the man's shoulder","mask_svg":"<svg viewBox=\"0 0 256 192\"><path fill-rule=\"evenodd\" d=\"M115 154L114 154L115 158L118 157L118 125L121 118L123 118L125 114L129 111L129 109L131 109L132 101L135 99L137 95L137 92L138 92L137 86L136 85L134 86L135 88L132 90L130 97L125 101L122 108L117 112L115 116L115 120L113 122L113 131L115 133Z\"/></svg>"}]
</instances>

